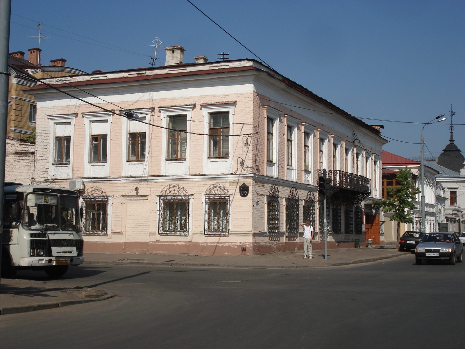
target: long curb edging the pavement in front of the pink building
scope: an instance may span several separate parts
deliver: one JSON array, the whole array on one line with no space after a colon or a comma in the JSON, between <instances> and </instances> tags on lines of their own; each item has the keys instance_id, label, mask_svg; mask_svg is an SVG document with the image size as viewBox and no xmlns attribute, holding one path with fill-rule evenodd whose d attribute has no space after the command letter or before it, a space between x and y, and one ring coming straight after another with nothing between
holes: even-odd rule
<instances>
[{"instance_id":1,"label":"long curb edging the pavement in front of the pink building","mask_svg":"<svg viewBox=\"0 0 465 349\"><path fill-rule=\"evenodd\" d=\"M341 265L359 264L380 261L382 259L389 259L399 257L401 255L410 255L410 252L403 252L397 255L388 255L383 257L373 257L367 259L359 259L357 261L331 263L323 267L338 267ZM316 268L312 265L221 265L221 264L205 264L205 263L172 263L172 262L98 262L98 261L84 261L84 264L100 264L100 265L145 265L155 267L190 267L190 268L249 268L249 269L298 269L298 268Z\"/></svg>"}]
</instances>

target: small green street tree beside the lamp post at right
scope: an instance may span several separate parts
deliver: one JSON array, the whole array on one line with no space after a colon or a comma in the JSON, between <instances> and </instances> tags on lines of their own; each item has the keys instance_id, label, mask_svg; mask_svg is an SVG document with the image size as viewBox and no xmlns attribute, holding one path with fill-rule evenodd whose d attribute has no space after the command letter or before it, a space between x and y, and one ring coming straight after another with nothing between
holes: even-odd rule
<instances>
[{"instance_id":1,"label":"small green street tree beside the lamp post at right","mask_svg":"<svg viewBox=\"0 0 465 349\"><path fill-rule=\"evenodd\" d=\"M383 212L392 213L391 221L397 222L397 248L399 248L400 223L413 223L412 210L415 205L415 195L420 193L420 189L415 187L410 168L399 169L396 175L398 188L387 188L388 197L385 200L374 201L372 206L381 208Z\"/></svg>"}]
</instances>

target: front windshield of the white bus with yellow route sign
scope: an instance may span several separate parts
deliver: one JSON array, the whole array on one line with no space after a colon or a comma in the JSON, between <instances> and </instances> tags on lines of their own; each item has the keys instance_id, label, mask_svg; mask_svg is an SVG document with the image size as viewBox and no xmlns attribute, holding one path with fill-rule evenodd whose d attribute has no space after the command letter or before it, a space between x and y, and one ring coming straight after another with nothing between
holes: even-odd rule
<instances>
[{"instance_id":1,"label":"front windshield of the white bus with yellow route sign","mask_svg":"<svg viewBox=\"0 0 465 349\"><path fill-rule=\"evenodd\" d=\"M27 194L23 226L26 229L59 229L58 196L54 194Z\"/></svg>"}]
</instances>

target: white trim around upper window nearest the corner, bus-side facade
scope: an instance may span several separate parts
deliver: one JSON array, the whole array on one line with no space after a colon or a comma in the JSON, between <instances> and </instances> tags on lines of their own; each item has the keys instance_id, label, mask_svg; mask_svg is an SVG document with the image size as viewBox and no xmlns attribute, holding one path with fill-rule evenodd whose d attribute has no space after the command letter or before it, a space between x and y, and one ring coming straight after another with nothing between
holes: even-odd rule
<instances>
[{"instance_id":1,"label":"white trim around upper window nearest the corner, bus-side facade","mask_svg":"<svg viewBox=\"0 0 465 349\"><path fill-rule=\"evenodd\" d=\"M213 158L209 159L208 158L208 150L210 148L210 141L209 141L209 136L207 135L209 133L209 127L210 127L210 118L209 118L209 113L215 113L215 112L229 112L229 134L234 134L234 107L235 103L225 103L225 104L211 104L211 105L205 105L201 106L203 117L204 117L204 164L203 164L203 173L204 174L210 174L210 173L217 173L217 172L212 172L210 169L211 164L213 162L218 162L218 161L226 161L226 170L224 172L219 172L219 173L231 173L233 171L233 147L234 147L234 142L233 138L230 136L229 137L229 157L228 158Z\"/></svg>"}]
</instances>

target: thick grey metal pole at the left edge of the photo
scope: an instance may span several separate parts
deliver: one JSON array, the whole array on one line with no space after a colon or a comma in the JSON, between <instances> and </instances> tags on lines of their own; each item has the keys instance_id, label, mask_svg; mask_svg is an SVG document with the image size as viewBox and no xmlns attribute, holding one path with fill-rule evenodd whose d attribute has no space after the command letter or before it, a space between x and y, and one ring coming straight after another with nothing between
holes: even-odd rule
<instances>
[{"instance_id":1,"label":"thick grey metal pole at the left edge of the photo","mask_svg":"<svg viewBox=\"0 0 465 349\"><path fill-rule=\"evenodd\" d=\"M8 74L10 16L11 0L0 0L0 273L3 246L3 190L5 187L5 153L7 151L8 83L10 80L10 74Z\"/></svg>"}]
</instances>

